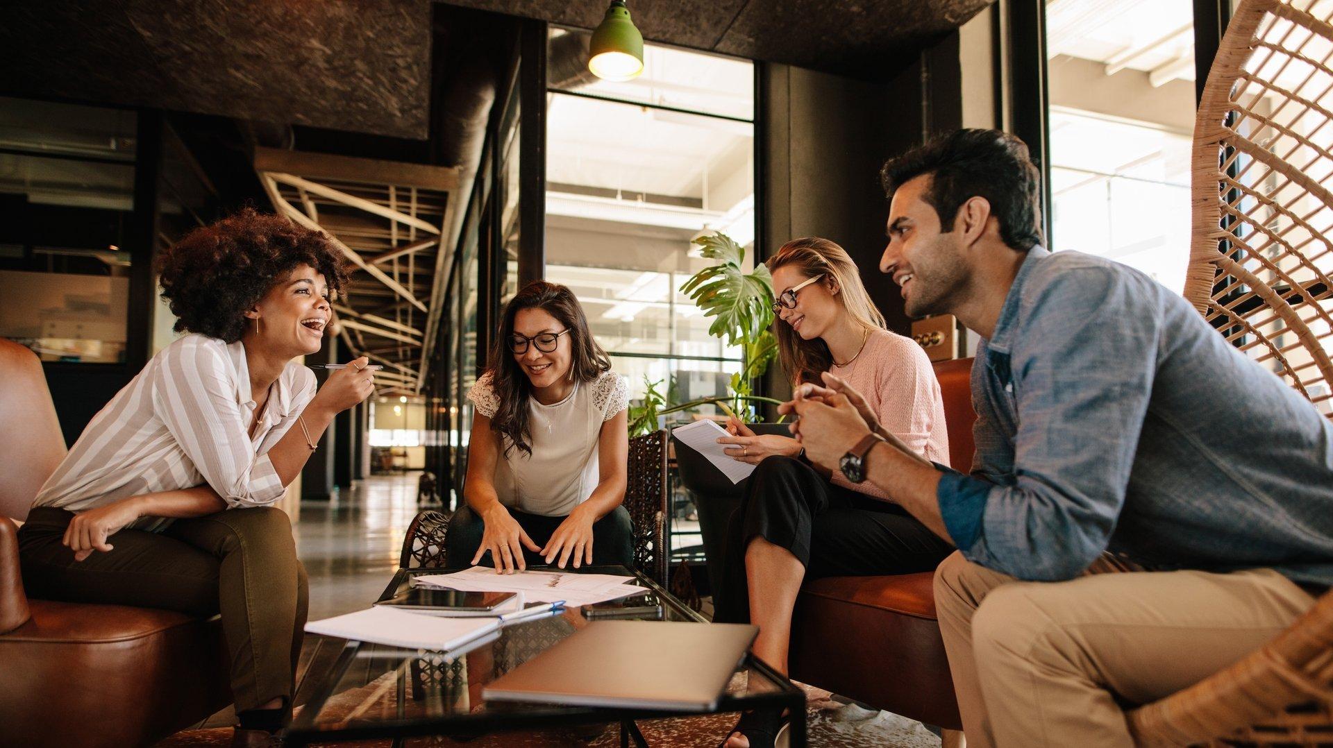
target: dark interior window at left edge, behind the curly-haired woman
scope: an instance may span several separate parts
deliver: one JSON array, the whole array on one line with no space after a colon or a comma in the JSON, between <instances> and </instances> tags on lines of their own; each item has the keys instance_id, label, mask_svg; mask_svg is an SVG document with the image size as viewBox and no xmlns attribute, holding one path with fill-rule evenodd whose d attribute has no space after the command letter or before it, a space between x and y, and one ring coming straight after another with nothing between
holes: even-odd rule
<instances>
[{"instance_id":1,"label":"dark interior window at left edge, behind the curly-haired woman","mask_svg":"<svg viewBox=\"0 0 1333 748\"><path fill-rule=\"evenodd\" d=\"M136 116L0 97L0 336L123 363Z\"/></svg>"}]
</instances>

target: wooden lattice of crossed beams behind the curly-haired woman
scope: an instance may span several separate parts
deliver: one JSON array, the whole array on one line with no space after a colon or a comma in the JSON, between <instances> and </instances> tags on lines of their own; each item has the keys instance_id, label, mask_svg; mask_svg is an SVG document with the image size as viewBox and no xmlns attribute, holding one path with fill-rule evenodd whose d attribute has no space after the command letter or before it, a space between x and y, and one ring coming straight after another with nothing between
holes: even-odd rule
<instances>
[{"instance_id":1,"label":"wooden lattice of crossed beams behind the curly-haired woman","mask_svg":"<svg viewBox=\"0 0 1333 748\"><path fill-rule=\"evenodd\" d=\"M460 169L276 148L256 148L253 163L279 215L325 232L347 259L352 283L331 324L351 349L344 357L384 365L380 393L420 392L429 304L444 297L436 260L457 212Z\"/></svg>"}]
</instances>

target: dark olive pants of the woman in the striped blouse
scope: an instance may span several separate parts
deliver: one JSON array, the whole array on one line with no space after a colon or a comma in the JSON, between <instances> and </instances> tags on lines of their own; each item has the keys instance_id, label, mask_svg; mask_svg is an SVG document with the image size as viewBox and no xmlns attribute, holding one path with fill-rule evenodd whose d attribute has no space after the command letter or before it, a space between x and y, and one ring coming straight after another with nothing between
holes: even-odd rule
<instances>
[{"instance_id":1,"label":"dark olive pants of the woman in the striped blouse","mask_svg":"<svg viewBox=\"0 0 1333 748\"><path fill-rule=\"evenodd\" d=\"M289 708L308 585L287 513L271 507L175 520L163 532L123 529L115 548L75 561L60 539L73 513L37 507L19 528L32 597L223 615L236 711L281 697Z\"/></svg>"}]
</instances>

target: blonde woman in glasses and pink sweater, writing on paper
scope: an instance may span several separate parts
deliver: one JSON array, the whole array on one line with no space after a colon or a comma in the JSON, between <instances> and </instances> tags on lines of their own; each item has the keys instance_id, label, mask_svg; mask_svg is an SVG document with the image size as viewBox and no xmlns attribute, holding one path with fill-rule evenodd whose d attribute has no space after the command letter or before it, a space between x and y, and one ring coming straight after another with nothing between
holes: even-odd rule
<instances>
[{"instance_id":1,"label":"blonde woman in glasses and pink sweater, writing on paper","mask_svg":"<svg viewBox=\"0 0 1333 748\"><path fill-rule=\"evenodd\" d=\"M925 351L885 329L856 264L826 239L796 239L768 260L774 331L793 388L832 372L865 395L880 423L928 460L949 463L940 383ZM798 393L798 392L797 392ZM933 569L953 548L861 475L820 472L789 436L756 435L732 420L718 439L757 465L729 527L718 621L760 628L754 655L786 672L792 607L805 577ZM854 473L854 471L853 471ZM741 716L726 748L769 747L780 715Z\"/></svg>"}]
</instances>

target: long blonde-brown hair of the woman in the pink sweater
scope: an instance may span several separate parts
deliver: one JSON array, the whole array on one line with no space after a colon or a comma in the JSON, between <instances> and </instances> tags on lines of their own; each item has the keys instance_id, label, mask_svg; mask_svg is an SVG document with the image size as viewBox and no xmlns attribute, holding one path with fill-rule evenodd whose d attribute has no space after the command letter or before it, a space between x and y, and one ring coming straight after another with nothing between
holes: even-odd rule
<instances>
[{"instance_id":1,"label":"long blonde-brown hair of the woman in the pink sweater","mask_svg":"<svg viewBox=\"0 0 1333 748\"><path fill-rule=\"evenodd\" d=\"M837 243L818 236L793 239L778 248L777 253L769 257L765 264L769 272L796 265L806 277L822 275L824 277L818 283L830 291L841 289L834 299L868 333L885 329L884 315L870 301L870 295L865 292L856 263ZM829 353L829 347L822 339L804 340L792 329L792 325L776 317L773 319L773 335L777 336L777 352L782 361L782 371L786 372L793 384L820 383L820 373L826 372L833 365L833 355Z\"/></svg>"}]
</instances>

